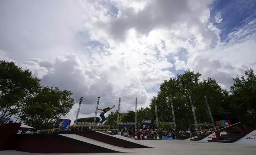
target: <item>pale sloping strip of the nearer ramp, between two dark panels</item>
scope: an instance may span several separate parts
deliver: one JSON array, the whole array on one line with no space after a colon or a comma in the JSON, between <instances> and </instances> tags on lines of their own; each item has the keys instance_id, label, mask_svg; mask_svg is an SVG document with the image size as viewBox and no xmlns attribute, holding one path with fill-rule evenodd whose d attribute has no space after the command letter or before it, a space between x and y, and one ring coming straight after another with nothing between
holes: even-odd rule
<instances>
[{"instance_id":1,"label":"pale sloping strip of the nearer ramp, between two dark panels","mask_svg":"<svg viewBox=\"0 0 256 155\"><path fill-rule=\"evenodd\" d=\"M93 140L93 139L86 138L86 137L83 137L83 136L79 136L77 134L60 134L60 135L66 136L66 137L69 137L69 138L73 138L73 139L76 139L76 140L80 140L82 142L86 142L86 143L89 143L89 144L101 146L101 147L111 149L111 150L114 150L114 151L117 151L117 152L126 152L126 153L133 152L132 149L127 149L127 148L118 147L118 146L112 146L110 144L99 142L97 140Z\"/></svg>"}]
</instances>

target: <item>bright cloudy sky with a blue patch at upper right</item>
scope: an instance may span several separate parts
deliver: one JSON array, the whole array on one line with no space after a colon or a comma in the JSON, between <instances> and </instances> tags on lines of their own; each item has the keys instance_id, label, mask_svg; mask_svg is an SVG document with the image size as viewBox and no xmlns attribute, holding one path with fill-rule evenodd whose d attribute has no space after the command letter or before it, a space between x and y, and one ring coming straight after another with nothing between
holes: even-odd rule
<instances>
[{"instance_id":1,"label":"bright cloudy sky with a blue patch at upper right","mask_svg":"<svg viewBox=\"0 0 256 155\"><path fill-rule=\"evenodd\" d=\"M146 107L165 79L194 70L223 89L256 69L255 0L1 0L0 60L72 91L65 117ZM99 116L99 113L98 115Z\"/></svg>"}]
</instances>

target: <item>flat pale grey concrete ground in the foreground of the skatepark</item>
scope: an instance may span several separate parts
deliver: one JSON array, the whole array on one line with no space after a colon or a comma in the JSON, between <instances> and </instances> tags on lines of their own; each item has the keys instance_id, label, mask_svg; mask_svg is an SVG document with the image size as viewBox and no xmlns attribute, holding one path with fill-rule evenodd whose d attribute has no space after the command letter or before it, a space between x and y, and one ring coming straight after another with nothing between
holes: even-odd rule
<instances>
[{"instance_id":1,"label":"flat pale grey concrete ground in the foreground of the skatepark","mask_svg":"<svg viewBox=\"0 0 256 155\"><path fill-rule=\"evenodd\" d=\"M255 146L234 143L192 142L190 140L136 140L136 142L155 146L155 148L132 149L129 153L47 153L47 155L256 155ZM42 154L7 150L0 151L0 155Z\"/></svg>"}]
</instances>

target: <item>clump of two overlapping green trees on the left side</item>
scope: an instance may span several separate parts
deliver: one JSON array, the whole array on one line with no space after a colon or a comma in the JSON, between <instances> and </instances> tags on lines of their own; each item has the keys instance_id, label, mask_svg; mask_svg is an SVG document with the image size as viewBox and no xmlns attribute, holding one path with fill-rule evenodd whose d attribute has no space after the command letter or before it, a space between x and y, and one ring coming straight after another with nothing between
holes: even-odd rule
<instances>
[{"instance_id":1,"label":"clump of two overlapping green trees on the left side","mask_svg":"<svg viewBox=\"0 0 256 155\"><path fill-rule=\"evenodd\" d=\"M74 105L70 91L41 86L39 78L15 62L1 60L0 73L0 118L16 115L27 125L48 128Z\"/></svg>"}]
</instances>

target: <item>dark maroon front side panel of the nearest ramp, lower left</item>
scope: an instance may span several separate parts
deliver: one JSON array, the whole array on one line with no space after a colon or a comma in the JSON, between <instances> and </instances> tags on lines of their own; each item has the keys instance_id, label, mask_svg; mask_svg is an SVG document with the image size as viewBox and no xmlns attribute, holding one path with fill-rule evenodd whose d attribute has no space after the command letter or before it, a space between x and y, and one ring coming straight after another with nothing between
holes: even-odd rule
<instances>
[{"instance_id":1,"label":"dark maroon front side panel of the nearest ramp, lower left","mask_svg":"<svg viewBox=\"0 0 256 155\"><path fill-rule=\"evenodd\" d=\"M58 134L17 134L12 149L30 153L118 153Z\"/></svg>"}]
</instances>

